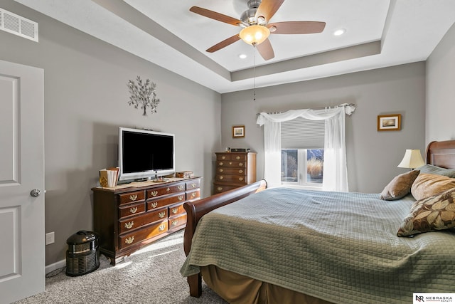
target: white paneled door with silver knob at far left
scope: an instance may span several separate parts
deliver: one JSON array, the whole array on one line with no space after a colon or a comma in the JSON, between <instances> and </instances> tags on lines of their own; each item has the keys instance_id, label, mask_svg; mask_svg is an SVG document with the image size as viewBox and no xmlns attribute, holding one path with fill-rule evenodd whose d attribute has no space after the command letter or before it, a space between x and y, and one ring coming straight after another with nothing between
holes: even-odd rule
<instances>
[{"instance_id":1,"label":"white paneled door with silver knob at far left","mask_svg":"<svg viewBox=\"0 0 455 304\"><path fill-rule=\"evenodd\" d=\"M33 189L41 192L32 196ZM0 303L45 290L44 72L0 61Z\"/></svg>"}]
</instances>

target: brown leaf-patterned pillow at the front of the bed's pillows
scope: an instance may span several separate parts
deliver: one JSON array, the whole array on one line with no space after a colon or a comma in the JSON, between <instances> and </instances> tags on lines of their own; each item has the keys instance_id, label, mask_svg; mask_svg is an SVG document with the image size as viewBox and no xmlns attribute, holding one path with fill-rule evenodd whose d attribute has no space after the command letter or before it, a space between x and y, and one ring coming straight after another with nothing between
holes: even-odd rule
<instances>
[{"instance_id":1,"label":"brown leaf-patterned pillow at the front of the bed's pillows","mask_svg":"<svg viewBox=\"0 0 455 304\"><path fill-rule=\"evenodd\" d=\"M414 236L454 227L455 188L414 201L410 214L398 229L397 236Z\"/></svg>"}]
</instances>

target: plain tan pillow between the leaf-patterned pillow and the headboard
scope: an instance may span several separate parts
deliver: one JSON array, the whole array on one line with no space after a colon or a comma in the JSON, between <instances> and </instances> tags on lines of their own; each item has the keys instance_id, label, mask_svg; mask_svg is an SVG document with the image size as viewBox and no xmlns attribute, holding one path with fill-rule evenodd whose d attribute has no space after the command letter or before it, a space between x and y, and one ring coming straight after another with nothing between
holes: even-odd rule
<instances>
[{"instance_id":1,"label":"plain tan pillow between the leaf-patterned pillow and the headboard","mask_svg":"<svg viewBox=\"0 0 455 304\"><path fill-rule=\"evenodd\" d=\"M440 192L455 188L455 179L437 174L420 173L411 187L414 199L424 199Z\"/></svg>"}]
</instances>

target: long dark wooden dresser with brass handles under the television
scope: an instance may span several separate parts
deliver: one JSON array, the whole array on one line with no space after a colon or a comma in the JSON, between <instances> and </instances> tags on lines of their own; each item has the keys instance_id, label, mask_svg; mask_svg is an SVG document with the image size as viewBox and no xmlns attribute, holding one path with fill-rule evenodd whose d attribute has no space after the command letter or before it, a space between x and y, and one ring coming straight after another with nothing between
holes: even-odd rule
<instances>
[{"instance_id":1,"label":"long dark wooden dresser with brass handles under the television","mask_svg":"<svg viewBox=\"0 0 455 304\"><path fill-rule=\"evenodd\" d=\"M183 203L200 199L200 179L92 188L93 230L100 236L100 253L115 265L139 248L185 228Z\"/></svg>"}]
</instances>

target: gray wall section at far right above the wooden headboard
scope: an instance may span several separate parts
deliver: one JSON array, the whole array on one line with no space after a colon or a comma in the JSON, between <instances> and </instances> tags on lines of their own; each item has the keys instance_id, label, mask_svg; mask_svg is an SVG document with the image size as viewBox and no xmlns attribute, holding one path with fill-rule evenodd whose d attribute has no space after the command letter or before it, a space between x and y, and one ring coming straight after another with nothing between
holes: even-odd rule
<instances>
[{"instance_id":1,"label":"gray wall section at far right above the wooden headboard","mask_svg":"<svg viewBox=\"0 0 455 304\"><path fill-rule=\"evenodd\" d=\"M455 140L455 24L427 60L425 140Z\"/></svg>"}]
</instances>

